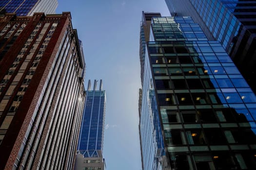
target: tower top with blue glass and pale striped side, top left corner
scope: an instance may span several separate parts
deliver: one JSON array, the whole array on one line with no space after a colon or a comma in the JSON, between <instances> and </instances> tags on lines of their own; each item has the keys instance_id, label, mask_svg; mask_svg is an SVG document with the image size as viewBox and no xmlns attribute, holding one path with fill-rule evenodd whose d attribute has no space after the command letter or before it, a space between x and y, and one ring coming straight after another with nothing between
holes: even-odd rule
<instances>
[{"instance_id":1,"label":"tower top with blue glass and pale striped side, top left corner","mask_svg":"<svg viewBox=\"0 0 256 170\"><path fill-rule=\"evenodd\" d=\"M1 0L0 13L16 13L17 16L33 16L34 12L55 14L57 0Z\"/></svg>"}]
</instances>

